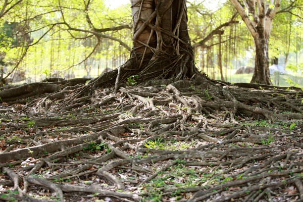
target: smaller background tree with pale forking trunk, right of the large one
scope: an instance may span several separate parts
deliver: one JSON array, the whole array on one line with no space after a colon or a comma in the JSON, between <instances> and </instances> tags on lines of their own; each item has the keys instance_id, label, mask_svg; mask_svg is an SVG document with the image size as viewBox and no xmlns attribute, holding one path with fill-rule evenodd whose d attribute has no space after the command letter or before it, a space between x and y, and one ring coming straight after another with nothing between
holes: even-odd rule
<instances>
[{"instance_id":1,"label":"smaller background tree with pale forking trunk, right of the large one","mask_svg":"<svg viewBox=\"0 0 303 202\"><path fill-rule=\"evenodd\" d=\"M249 29L255 45L255 68L251 83L272 85L269 74L268 40L280 0L230 0Z\"/></svg>"}]
</instances>

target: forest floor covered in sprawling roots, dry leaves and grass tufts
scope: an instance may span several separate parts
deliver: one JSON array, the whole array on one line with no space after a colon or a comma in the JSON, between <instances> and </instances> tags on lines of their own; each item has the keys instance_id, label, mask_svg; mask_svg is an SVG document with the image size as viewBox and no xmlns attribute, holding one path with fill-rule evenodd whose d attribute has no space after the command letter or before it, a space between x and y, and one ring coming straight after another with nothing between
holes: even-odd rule
<instances>
[{"instance_id":1,"label":"forest floor covered in sprawling roots, dry leaves and grass tufts","mask_svg":"<svg viewBox=\"0 0 303 202\"><path fill-rule=\"evenodd\" d=\"M303 202L303 91L239 86L2 98L0 201Z\"/></svg>"}]
</instances>

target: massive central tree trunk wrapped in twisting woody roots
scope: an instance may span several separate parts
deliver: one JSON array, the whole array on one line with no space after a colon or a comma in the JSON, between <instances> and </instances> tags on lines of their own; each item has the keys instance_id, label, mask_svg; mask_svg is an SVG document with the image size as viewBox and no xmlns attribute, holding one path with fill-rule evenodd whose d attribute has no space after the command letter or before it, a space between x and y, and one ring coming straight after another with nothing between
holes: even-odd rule
<instances>
[{"instance_id":1,"label":"massive central tree trunk wrapped in twisting woody roots","mask_svg":"<svg viewBox=\"0 0 303 202\"><path fill-rule=\"evenodd\" d=\"M187 29L186 0L131 0L131 7L133 50L125 69L140 80L185 79L198 72Z\"/></svg>"}]
</instances>

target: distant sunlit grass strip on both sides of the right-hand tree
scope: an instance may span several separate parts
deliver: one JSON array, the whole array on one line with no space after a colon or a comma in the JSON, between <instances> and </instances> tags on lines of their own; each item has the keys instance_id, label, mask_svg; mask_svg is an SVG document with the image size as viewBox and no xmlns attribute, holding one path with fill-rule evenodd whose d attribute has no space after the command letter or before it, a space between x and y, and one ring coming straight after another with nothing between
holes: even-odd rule
<instances>
[{"instance_id":1,"label":"distant sunlit grass strip on both sides of the right-hand tree","mask_svg":"<svg viewBox=\"0 0 303 202\"><path fill-rule=\"evenodd\" d=\"M227 81L230 83L250 83L251 79L253 77L253 74L232 74L231 76L227 76ZM220 75L216 76L217 80L220 80ZM270 78L272 79L272 83L275 84L275 76L270 75ZM303 88L303 75L291 75L291 74L281 74L280 80L279 80L279 86L293 86L290 85L287 80L290 79L295 83L298 83L300 88Z\"/></svg>"}]
</instances>

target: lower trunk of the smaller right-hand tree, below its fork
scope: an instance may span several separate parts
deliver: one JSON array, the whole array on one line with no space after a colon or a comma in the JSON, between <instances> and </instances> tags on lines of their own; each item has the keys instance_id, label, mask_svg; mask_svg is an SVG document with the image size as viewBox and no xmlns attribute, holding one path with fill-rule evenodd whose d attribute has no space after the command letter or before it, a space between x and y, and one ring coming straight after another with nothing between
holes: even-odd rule
<instances>
[{"instance_id":1,"label":"lower trunk of the smaller right-hand tree, below its fork","mask_svg":"<svg viewBox=\"0 0 303 202\"><path fill-rule=\"evenodd\" d=\"M255 60L251 83L272 85L269 74L268 40L254 39Z\"/></svg>"}]
</instances>

